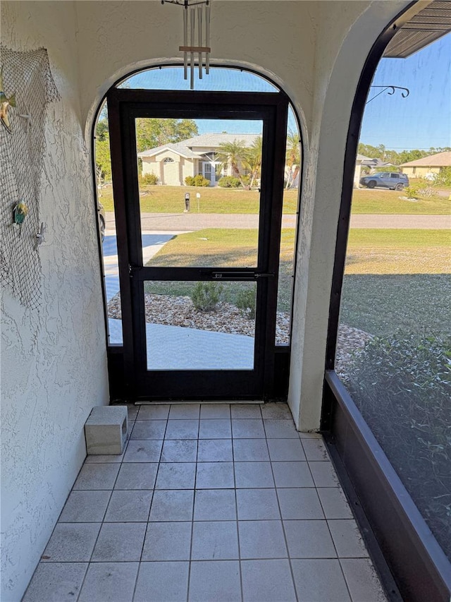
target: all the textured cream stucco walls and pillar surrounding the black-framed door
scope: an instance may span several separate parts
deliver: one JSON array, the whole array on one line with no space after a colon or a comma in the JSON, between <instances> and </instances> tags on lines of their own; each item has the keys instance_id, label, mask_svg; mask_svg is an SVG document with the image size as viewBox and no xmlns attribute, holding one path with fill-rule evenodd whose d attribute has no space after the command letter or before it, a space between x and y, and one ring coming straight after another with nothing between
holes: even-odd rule
<instances>
[{"instance_id":1,"label":"all the textured cream stucco walls and pillar surrounding the black-framed door","mask_svg":"<svg viewBox=\"0 0 451 602\"><path fill-rule=\"evenodd\" d=\"M305 430L319 426L352 97L371 44L407 4L215 0L212 11L212 59L273 78L290 95L302 124L289 401ZM117 78L180 61L181 26L180 9L157 0L2 4L2 40L15 49L47 47L62 96L49 108L42 311L27 312L4 296L2 601L20 598L84 457L82 425L92 405L107 398L95 215L82 133L89 140L94 113Z\"/></svg>"}]
</instances>

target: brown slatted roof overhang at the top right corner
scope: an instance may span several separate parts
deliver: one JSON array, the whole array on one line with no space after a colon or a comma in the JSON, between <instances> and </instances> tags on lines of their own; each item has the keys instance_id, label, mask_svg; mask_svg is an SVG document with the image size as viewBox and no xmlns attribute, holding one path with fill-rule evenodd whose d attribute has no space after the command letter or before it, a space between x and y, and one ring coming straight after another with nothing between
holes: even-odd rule
<instances>
[{"instance_id":1,"label":"brown slatted roof overhang at the top right corner","mask_svg":"<svg viewBox=\"0 0 451 602\"><path fill-rule=\"evenodd\" d=\"M451 2L433 0L393 37L383 54L386 59L407 59L451 31Z\"/></svg>"}]
</instances>

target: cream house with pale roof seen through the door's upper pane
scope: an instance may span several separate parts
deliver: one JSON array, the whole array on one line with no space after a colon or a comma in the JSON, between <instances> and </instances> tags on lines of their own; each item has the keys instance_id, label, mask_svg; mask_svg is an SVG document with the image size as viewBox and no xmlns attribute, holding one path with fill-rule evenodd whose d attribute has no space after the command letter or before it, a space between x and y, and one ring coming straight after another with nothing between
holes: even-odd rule
<instances>
[{"instance_id":1,"label":"cream house with pale roof seen through the door's upper pane","mask_svg":"<svg viewBox=\"0 0 451 602\"><path fill-rule=\"evenodd\" d=\"M258 137L257 134L209 133L143 150L138 152L142 175L155 174L161 184L184 186L187 176L202 174L210 186L215 186L222 176L233 175L231 166L223 166L218 160L221 144L242 141L250 147Z\"/></svg>"}]
</instances>

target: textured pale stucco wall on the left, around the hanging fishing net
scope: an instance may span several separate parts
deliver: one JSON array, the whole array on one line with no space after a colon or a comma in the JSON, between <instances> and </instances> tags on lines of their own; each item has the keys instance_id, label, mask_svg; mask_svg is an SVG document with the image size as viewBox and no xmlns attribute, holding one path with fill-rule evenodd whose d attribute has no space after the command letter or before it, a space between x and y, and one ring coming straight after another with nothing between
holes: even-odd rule
<instances>
[{"instance_id":1,"label":"textured pale stucco wall on the left, around the hanging fishing net","mask_svg":"<svg viewBox=\"0 0 451 602\"><path fill-rule=\"evenodd\" d=\"M20 600L85 458L89 411L109 397L74 23L71 2L1 4L2 42L16 50L46 47L61 94L47 113L42 307L29 311L2 290L2 602Z\"/></svg>"}]
</instances>

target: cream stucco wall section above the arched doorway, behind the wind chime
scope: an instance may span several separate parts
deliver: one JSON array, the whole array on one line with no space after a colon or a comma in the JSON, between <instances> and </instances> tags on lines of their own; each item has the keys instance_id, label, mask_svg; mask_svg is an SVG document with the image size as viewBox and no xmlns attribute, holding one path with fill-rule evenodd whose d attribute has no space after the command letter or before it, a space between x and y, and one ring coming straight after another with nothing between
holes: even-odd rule
<instances>
[{"instance_id":1,"label":"cream stucco wall section above the arched doorway, behind the wind chime","mask_svg":"<svg viewBox=\"0 0 451 602\"><path fill-rule=\"evenodd\" d=\"M215 0L211 11L211 60L257 67L273 76L311 114L316 1ZM80 1L77 40L82 114L132 69L180 62L180 8L159 0ZM121 42L118 42L121 40ZM94 107L97 108L97 102Z\"/></svg>"}]
</instances>

